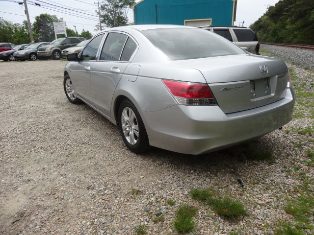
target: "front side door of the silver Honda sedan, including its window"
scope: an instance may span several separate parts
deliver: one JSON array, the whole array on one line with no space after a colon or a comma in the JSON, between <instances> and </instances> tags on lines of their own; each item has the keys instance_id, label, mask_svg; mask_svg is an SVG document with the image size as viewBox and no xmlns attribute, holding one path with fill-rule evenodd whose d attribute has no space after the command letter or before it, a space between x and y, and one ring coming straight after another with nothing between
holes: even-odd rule
<instances>
[{"instance_id":1,"label":"front side door of the silver Honda sedan, including its window","mask_svg":"<svg viewBox=\"0 0 314 235\"><path fill-rule=\"evenodd\" d=\"M104 34L94 37L79 55L79 61L70 62L71 80L76 93L86 102L92 103L92 94L90 88L90 71L96 61L99 47L104 38Z\"/></svg>"}]
</instances>

